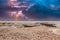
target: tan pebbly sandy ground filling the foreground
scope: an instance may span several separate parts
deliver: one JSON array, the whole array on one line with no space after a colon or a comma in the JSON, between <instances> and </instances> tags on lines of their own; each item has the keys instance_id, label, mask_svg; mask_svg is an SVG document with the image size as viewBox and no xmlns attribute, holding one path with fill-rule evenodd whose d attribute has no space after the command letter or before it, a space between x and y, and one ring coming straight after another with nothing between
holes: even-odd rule
<instances>
[{"instance_id":1,"label":"tan pebbly sandy ground filling the foreground","mask_svg":"<svg viewBox=\"0 0 60 40\"><path fill-rule=\"evenodd\" d=\"M1 22L0 40L60 40L59 27L38 24Z\"/></svg>"}]
</instances>

